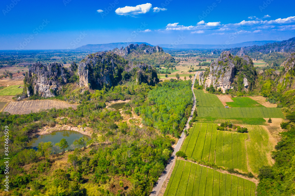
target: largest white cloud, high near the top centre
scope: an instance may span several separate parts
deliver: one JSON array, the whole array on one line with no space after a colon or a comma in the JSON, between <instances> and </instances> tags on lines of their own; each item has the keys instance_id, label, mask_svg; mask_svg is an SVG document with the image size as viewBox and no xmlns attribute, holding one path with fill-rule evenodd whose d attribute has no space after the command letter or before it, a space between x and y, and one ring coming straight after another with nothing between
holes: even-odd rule
<instances>
[{"instance_id":1,"label":"largest white cloud, high near the top centre","mask_svg":"<svg viewBox=\"0 0 295 196\"><path fill-rule=\"evenodd\" d=\"M138 15L138 14L146 14L147 12L150 11L150 9L152 8L152 4L150 3L146 3L146 4L141 4L141 5L137 5L137 6L125 6L122 8L118 8L116 9L116 14L118 15L123 15L123 16L134 16L134 15Z\"/></svg>"}]
</instances>

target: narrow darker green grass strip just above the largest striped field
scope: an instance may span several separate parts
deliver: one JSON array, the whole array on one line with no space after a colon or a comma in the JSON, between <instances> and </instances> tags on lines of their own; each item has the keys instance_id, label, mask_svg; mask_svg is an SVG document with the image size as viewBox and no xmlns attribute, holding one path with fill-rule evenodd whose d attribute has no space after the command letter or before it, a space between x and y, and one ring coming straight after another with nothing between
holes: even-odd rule
<instances>
[{"instance_id":1,"label":"narrow darker green grass strip just above the largest striped field","mask_svg":"<svg viewBox=\"0 0 295 196\"><path fill-rule=\"evenodd\" d=\"M251 125L267 125L263 118L212 118L212 117L196 117L196 122L204 123L222 123L230 121L233 124L251 124Z\"/></svg>"}]
</instances>

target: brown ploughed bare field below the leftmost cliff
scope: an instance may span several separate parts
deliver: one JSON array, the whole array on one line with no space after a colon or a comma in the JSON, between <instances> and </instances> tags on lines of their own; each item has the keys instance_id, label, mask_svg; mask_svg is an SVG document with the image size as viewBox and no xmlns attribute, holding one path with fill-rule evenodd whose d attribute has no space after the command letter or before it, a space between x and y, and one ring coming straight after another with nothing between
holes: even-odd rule
<instances>
[{"instance_id":1,"label":"brown ploughed bare field below the leftmost cliff","mask_svg":"<svg viewBox=\"0 0 295 196\"><path fill-rule=\"evenodd\" d=\"M68 104L66 102L57 100L26 100L19 102L10 102L3 109L3 112L9 112L10 114L30 114L30 112L39 112L40 110L61 109L72 107L77 109L77 104Z\"/></svg>"}]
</instances>

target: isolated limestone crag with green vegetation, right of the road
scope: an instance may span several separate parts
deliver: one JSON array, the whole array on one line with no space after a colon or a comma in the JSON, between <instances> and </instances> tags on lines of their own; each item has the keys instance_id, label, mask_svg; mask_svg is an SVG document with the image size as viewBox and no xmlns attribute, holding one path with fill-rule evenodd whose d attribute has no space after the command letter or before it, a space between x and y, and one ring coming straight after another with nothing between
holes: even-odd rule
<instances>
[{"instance_id":1,"label":"isolated limestone crag with green vegetation, right of the road","mask_svg":"<svg viewBox=\"0 0 295 196\"><path fill-rule=\"evenodd\" d=\"M233 57L229 51L211 63L210 69L199 73L199 85L209 88L211 85L220 92L230 89L251 90L255 84L256 70L248 56Z\"/></svg>"}]
</instances>

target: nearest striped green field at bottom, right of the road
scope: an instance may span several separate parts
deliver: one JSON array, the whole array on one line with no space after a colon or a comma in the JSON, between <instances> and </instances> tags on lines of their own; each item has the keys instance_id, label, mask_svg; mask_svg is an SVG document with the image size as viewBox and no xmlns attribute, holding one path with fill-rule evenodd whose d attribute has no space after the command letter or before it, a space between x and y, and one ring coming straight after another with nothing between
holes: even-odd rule
<instances>
[{"instance_id":1,"label":"nearest striped green field at bottom, right of the road","mask_svg":"<svg viewBox=\"0 0 295 196\"><path fill-rule=\"evenodd\" d=\"M198 164L176 160L164 196L255 196L255 183Z\"/></svg>"}]
</instances>

